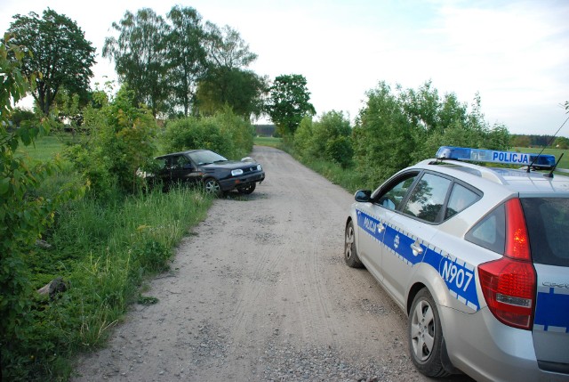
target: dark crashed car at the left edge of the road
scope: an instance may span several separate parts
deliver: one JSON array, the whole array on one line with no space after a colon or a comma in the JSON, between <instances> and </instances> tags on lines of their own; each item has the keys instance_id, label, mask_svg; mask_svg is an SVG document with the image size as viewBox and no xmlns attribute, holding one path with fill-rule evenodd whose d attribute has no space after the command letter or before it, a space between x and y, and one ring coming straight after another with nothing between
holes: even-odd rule
<instances>
[{"instance_id":1,"label":"dark crashed car at the left edge of the road","mask_svg":"<svg viewBox=\"0 0 569 382\"><path fill-rule=\"evenodd\" d=\"M174 152L156 157L156 162L160 169L147 177L151 182L162 182L166 189L186 183L201 185L204 191L218 196L232 190L250 194L265 180L263 168L252 158L228 160L210 150Z\"/></svg>"}]
</instances>

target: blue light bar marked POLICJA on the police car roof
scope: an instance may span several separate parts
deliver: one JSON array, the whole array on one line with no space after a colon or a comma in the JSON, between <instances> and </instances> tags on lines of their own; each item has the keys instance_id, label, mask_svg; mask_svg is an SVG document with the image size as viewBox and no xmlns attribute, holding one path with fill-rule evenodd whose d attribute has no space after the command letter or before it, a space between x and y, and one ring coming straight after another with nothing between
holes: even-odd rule
<instances>
[{"instance_id":1,"label":"blue light bar marked POLICJA on the police car roof","mask_svg":"<svg viewBox=\"0 0 569 382\"><path fill-rule=\"evenodd\" d=\"M532 166L553 168L553 155L526 154L515 151L497 151L469 149L466 147L441 146L437 151L437 159L468 160L471 162L501 163L505 165Z\"/></svg>"}]
</instances>

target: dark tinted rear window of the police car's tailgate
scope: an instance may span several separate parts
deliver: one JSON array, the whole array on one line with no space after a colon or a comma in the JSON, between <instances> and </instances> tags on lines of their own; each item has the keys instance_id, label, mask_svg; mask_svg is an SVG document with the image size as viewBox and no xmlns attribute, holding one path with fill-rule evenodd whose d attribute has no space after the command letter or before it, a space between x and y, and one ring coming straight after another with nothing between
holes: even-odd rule
<instances>
[{"instance_id":1,"label":"dark tinted rear window of the police car's tailgate","mask_svg":"<svg viewBox=\"0 0 569 382\"><path fill-rule=\"evenodd\" d=\"M569 199L522 198L533 262L569 266Z\"/></svg>"}]
</instances>

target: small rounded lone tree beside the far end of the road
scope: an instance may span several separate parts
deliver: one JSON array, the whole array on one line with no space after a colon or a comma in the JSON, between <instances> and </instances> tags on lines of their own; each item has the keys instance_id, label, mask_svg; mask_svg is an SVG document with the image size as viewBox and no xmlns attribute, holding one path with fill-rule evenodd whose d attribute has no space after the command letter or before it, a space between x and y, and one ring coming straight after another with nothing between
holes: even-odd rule
<instances>
[{"instance_id":1,"label":"small rounded lone tree beside the far end of the road","mask_svg":"<svg viewBox=\"0 0 569 382\"><path fill-rule=\"evenodd\" d=\"M293 135L302 118L316 114L309 100L305 77L293 74L275 78L269 89L267 112L279 133Z\"/></svg>"}]
</instances>

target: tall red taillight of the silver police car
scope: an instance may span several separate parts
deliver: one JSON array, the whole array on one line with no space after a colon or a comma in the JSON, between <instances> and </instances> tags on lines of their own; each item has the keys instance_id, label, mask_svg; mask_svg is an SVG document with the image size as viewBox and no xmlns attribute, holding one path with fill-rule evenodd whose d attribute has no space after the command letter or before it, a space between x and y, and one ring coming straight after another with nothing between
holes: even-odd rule
<instances>
[{"instance_id":1,"label":"tall red taillight of the silver police car","mask_svg":"<svg viewBox=\"0 0 569 382\"><path fill-rule=\"evenodd\" d=\"M504 256L478 265L478 277L486 304L499 321L519 329L532 329L536 278L524 212L519 199L510 199L505 207Z\"/></svg>"}]
</instances>

